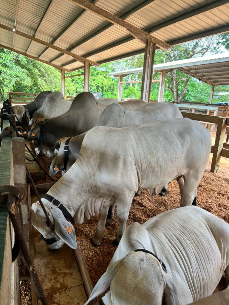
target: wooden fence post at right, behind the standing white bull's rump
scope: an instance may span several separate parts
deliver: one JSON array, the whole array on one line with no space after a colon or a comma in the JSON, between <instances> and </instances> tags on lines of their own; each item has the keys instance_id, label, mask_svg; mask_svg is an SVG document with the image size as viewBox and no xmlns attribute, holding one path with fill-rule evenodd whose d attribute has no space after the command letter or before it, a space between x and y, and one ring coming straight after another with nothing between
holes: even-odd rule
<instances>
[{"instance_id":1,"label":"wooden fence post at right, behind the standing white bull's rump","mask_svg":"<svg viewBox=\"0 0 229 305\"><path fill-rule=\"evenodd\" d=\"M224 136L226 132L226 118L218 117L218 124L216 130L216 140L213 150L213 157L212 157L212 165L211 165L211 172L215 173L219 166L220 166L220 157L221 152L224 144Z\"/></svg>"}]
</instances>

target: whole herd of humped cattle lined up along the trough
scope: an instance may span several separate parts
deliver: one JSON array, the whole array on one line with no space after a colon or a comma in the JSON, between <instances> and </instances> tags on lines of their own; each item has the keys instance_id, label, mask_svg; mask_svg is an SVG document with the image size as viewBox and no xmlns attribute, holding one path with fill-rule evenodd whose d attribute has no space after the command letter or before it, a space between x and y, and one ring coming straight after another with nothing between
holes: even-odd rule
<instances>
[{"instance_id":1,"label":"whole herd of humped cattle lined up along the trough","mask_svg":"<svg viewBox=\"0 0 229 305\"><path fill-rule=\"evenodd\" d=\"M118 248L86 304L104 295L106 305L189 304L212 294L224 272L229 288L229 225L195 206L211 150L201 123L183 118L172 103L96 100L89 92L65 100L44 91L13 109L37 153L53 158L50 174L62 170L42 198L55 230L39 202L30 211L50 250L77 248L74 219L82 224L95 214L91 241L100 246L117 206ZM172 180L180 208L126 229L133 196L143 189L163 196Z\"/></svg>"}]
</instances>

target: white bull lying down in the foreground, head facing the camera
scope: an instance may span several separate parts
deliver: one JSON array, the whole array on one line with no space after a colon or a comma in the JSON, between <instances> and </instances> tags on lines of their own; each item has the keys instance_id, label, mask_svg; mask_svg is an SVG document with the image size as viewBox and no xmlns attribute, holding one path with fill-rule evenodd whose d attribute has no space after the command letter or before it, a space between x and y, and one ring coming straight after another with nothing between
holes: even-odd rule
<instances>
[{"instance_id":1,"label":"white bull lying down in the foreground, head facing the camera","mask_svg":"<svg viewBox=\"0 0 229 305\"><path fill-rule=\"evenodd\" d=\"M185 305L211 295L224 272L229 288L229 225L185 206L131 224L85 305L106 292L105 305Z\"/></svg>"}]
</instances>

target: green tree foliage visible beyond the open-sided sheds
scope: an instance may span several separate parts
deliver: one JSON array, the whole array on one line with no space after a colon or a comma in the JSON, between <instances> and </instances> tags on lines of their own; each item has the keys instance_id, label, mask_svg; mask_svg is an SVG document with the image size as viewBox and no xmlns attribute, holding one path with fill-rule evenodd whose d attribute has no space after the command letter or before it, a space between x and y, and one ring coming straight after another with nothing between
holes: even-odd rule
<instances>
[{"instance_id":1,"label":"green tree foliage visible beyond the open-sided sheds","mask_svg":"<svg viewBox=\"0 0 229 305\"><path fill-rule=\"evenodd\" d=\"M180 59L191 59L208 54L223 52L224 47L229 50L229 33L212 36L182 45L176 45L171 52L157 50L154 65ZM118 77L111 78L107 74L122 70L140 68L144 63L144 54L132 56L112 63L105 63L100 67L90 68L89 91L102 92L103 97L118 98ZM78 71L77 73L83 73ZM74 72L75 74L75 72ZM66 73L66 75L71 75ZM153 79L159 79L160 74L153 74ZM60 91L61 74L52 66L45 65L23 55L0 48L0 93L10 91L24 91L38 93L44 90ZM123 81L141 81L142 73L129 74ZM66 78L66 95L75 96L83 91L83 76ZM151 100L158 99L159 83L153 82ZM166 74L164 99L166 101L208 102L210 86L198 81L179 70ZM141 83L123 84L122 98L140 99ZM220 96L213 102L225 100Z\"/></svg>"}]
</instances>

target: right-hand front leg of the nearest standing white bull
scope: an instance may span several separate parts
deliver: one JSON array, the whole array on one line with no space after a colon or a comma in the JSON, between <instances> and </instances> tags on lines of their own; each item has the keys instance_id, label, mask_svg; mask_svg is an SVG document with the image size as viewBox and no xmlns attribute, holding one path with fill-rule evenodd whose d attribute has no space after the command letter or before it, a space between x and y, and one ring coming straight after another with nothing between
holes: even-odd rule
<instances>
[{"instance_id":1,"label":"right-hand front leg of the nearest standing white bull","mask_svg":"<svg viewBox=\"0 0 229 305\"><path fill-rule=\"evenodd\" d=\"M116 200L117 204L117 216L118 216L118 221L119 221L119 227L118 227L118 233L115 238L114 245L117 246L122 238L122 234L125 231L126 228L126 222L129 216L129 209L131 206L133 198L131 199L123 199L122 201L120 200L119 202Z\"/></svg>"}]
</instances>

